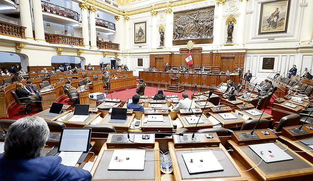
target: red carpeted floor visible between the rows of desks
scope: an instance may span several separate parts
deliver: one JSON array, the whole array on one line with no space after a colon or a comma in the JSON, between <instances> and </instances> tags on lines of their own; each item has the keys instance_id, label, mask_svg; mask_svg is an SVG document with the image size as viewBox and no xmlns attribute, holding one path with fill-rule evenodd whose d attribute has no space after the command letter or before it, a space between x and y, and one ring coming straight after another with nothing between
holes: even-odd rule
<instances>
[{"instance_id":1,"label":"red carpeted floor visible between the rows of desks","mask_svg":"<svg viewBox=\"0 0 313 181\"><path fill-rule=\"evenodd\" d=\"M155 88L155 87L146 87L146 89L145 89L145 96L151 97L151 96L156 95L158 89L159 89L159 88ZM136 90L135 88L132 88L132 89L129 89L129 90L116 91L116 92L112 92L112 94L110 94L110 93L107 94L107 97L108 97L108 98L111 98L111 96L112 96L113 99L118 98L118 99L121 99L121 101L127 101L127 99L132 98L133 95L136 94L136 93L135 93L135 90ZM184 93L184 92L186 92L186 93L189 95L189 98L191 98L191 95L194 93L194 91L183 91L183 92L181 92L181 93L165 92L165 91L164 91L164 88L162 88L162 90L163 90L164 95L166 95L166 96L169 96L169 95L178 95L179 99L182 99L182 96L181 96L181 95L182 95L182 93ZM62 99L60 102L61 102L61 103L64 103L64 104L68 104L68 101L65 101L65 100L67 100L67 99L68 99L68 98L65 97L65 98ZM269 103L269 105L268 105L268 107L270 107L270 108L265 110L265 113L267 113L267 114L271 114L271 102L272 102L272 101L274 101L274 98L272 98L272 99L270 100L270 103ZM21 109L20 109L21 107L22 107L22 106L17 105L17 106L15 106L15 107L11 108L10 110L8 110L8 118L2 118L2 119L18 120L18 119L20 119L20 118L25 117L25 114L24 114L24 113L20 113L20 114L18 114L17 116L15 116L15 113L18 113L18 111L21 110ZM34 108L32 108L32 109L33 109L33 110L38 110L37 107L34 107ZM263 110L262 110L262 111L263 111ZM38 113L38 112L37 112L37 113ZM33 115L35 115L35 114L37 114L37 113L36 113L36 112L29 112L29 113L28 113L28 116L33 116Z\"/></svg>"}]
</instances>

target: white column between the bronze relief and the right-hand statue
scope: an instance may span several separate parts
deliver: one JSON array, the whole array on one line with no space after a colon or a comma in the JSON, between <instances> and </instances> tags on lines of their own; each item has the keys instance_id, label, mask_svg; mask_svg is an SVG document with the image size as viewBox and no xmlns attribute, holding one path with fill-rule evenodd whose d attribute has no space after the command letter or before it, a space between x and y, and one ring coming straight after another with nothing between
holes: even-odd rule
<instances>
[{"instance_id":1,"label":"white column between the bronze relief and the right-hand statue","mask_svg":"<svg viewBox=\"0 0 313 181\"><path fill-rule=\"evenodd\" d=\"M220 4L217 6L217 11L218 11L218 18L217 18L217 26L214 28L215 31L215 36L214 36L214 41L216 46L222 46L223 42L223 4Z\"/></svg>"}]
</instances>

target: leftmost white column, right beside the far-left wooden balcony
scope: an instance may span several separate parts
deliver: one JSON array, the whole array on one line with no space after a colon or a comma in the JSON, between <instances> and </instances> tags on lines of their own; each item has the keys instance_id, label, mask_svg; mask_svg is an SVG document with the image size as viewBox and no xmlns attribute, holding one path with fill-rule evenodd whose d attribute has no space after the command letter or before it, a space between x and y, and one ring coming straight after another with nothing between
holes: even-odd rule
<instances>
[{"instance_id":1,"label":"leftmost white column, right beside the far-left wooden balcony","mask_svg":"<svg viewBox=\"0 0 313 181\"><path fill-rule=\"evenodd\" d=\"M21 13L21 25L26 27L25 37L26 39L33 38L33 26L31 23L29 0L20 0L20 13Z\"/></svg>"}]
</instances>

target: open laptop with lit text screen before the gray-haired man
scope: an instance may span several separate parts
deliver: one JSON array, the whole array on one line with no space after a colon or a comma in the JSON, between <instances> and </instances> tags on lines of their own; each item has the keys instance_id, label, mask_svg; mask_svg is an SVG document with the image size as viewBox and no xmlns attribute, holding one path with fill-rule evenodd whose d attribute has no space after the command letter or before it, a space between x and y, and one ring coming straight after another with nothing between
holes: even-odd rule
<instances>
[{"instance_id":1,"label":"open laptop with lit text screen before the gray-haired man","mask_svg":"<svg viewBox=\"0 0 313 181\"><path fill-rule=\"evenodd\" d=\"M58 151L54 156L59 156L62 151L83 152L77 161L82 163L91 149L90 138L91 128L63 128Z\"/></svg>"}]
</instances>

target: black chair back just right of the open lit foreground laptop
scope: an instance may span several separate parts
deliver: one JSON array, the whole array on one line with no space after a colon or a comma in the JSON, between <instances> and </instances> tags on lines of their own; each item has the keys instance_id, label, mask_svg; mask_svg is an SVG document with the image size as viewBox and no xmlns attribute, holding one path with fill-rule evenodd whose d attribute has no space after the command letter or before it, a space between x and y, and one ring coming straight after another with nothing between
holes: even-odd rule
<instances>
[{"instance_id":1,"label":"black chair back just right of the open lit foreground laptop","mask_svg":"<svg viewBox=\"0 0 313 181\"><path fill-rule=\"evenodd\" d=\"M91 128L92 138L108 138L109 133L116 133L112 125L85 125L84 128Z\"/></svg>"}]
</instances>

